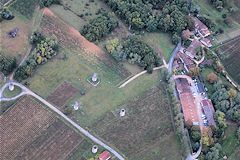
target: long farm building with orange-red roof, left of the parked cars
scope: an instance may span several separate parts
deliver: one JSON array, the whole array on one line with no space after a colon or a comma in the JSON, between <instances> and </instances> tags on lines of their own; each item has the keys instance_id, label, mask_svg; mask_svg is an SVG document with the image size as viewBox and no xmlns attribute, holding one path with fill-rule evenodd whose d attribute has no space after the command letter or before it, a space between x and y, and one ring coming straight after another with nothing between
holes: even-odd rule
<instances>
[{"instance_id":1,"label":"long farm building with orange-red roof, left of the parked cars","mask_svg":"<svg viewBox=\"0 0 240 160\"><path fill-rule=\"evenodd\" d=\"M176 80L176 86L182 105L185 123L188 125L198 125L198 114L188 81L186 79L179 78Z\"/></svg>"}]
</instances>

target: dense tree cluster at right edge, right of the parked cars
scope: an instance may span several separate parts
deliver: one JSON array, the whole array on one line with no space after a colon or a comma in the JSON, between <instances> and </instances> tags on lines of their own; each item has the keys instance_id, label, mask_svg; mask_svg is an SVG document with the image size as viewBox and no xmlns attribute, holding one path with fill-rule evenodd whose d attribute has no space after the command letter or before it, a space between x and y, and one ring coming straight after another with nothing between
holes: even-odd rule
<instances>
[{"instance_id":1,"label":"dense tree cluster at right edge, right of the parked cars","mask_svg":"<svg viewBox=\"0 0 240 160\"><path fill-rule=\"evenodd\" d=\"M216 110L225 113L232 121L240 121L240 92L221 82L215 83L213 88L211 99Z\"/></svg>"}]
</instances>

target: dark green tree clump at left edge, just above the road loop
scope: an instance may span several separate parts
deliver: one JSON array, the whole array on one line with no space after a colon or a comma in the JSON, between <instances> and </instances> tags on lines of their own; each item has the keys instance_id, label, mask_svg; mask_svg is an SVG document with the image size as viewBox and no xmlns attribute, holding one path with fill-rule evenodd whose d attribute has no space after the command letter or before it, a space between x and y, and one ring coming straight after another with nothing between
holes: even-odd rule
<instances>
[{"instance_id":1,"label":"dark green tree clump at left edge, just above the road loop","mask_svg":"<svg viewBox=\"0 0 240 160\"><path fill-rule=\"evenodd\" d=\"M15 57L7 56L0 53L0 71L8 76L17 66L17 60Z\"/></svg>"}]
</instances>

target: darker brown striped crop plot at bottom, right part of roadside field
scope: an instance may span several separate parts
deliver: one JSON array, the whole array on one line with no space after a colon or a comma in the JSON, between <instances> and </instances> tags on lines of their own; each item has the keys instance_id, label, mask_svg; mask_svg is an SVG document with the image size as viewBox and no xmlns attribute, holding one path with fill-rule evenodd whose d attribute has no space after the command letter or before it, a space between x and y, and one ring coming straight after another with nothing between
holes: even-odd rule
<instances>
[{"instance_id":1,"label":"darker brown striped crop plot at bottom, right part of roadside field","mask_svg":"<svg viewBox=\"0 0 240 160\"><path fill-rule=\"evenodd\" d=\"M82 140L75 131L56 120L26 145L16 159L66 159Z\"/></svg>"}]
</instances>

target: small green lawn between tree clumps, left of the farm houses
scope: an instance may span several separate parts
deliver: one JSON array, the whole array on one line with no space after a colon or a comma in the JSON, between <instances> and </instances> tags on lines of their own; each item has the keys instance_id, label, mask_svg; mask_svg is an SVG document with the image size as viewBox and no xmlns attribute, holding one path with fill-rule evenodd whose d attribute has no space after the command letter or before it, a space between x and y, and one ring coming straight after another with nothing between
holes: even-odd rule
<instances>
[{"instance_id":1,"label":"small green lawn between tree clumps, left of the farm houses","mask_svg":"<svg viewBox=\"0 0 240 160\"><path fill-rule=\"evenodd\" d=\"M148 43L156 52L162 53L165 60L168 62L175 45L172 44L171 36L167 33L156 32L143 35L143 41Z\"/></svg>"}]
</instances>

